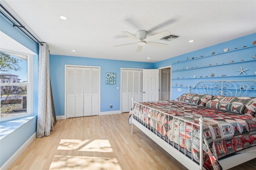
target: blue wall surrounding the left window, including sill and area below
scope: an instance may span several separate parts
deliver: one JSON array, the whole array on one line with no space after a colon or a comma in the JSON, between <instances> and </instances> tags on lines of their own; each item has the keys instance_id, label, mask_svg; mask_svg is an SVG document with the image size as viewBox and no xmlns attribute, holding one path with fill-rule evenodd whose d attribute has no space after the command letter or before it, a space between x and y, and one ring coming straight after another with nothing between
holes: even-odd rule
<instances>
[{"instance_id":1,"label":"blue wall surrounding the left window, including sill and area below","mask_svg":"<svg viewBox=\"0 0 256 170\"><path fill-rule=\"evenodd\" d=\"M38 45L28 38L10 21L0 16L0 31L38 54ZM36 132L38 103L38 55L34 55L34 116L1 122L6 134L0 135L0 167ZM7 133L8 132L8 133Z\"/></svg>"}]
</instances>

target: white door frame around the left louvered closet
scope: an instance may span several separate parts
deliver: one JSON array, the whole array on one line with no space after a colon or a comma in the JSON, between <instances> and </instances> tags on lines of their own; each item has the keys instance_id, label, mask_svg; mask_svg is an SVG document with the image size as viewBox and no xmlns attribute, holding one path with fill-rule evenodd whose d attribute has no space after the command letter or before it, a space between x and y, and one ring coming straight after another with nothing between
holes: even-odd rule
<instances>
[{"instance_id":1,"label":"white door frame around the left louvered closet","mask_svg":"<svg viewBox=\"0 0 256 170\"><path fill-rule=\"evenodd\" d=\"M98 68L99 69L99 115L100 115L100 66L90 66L90 65L69 65L69 64L65 64L65 102L64 102L64 119L67 119L67 67L87 67L87 68Z\"/></svg>"}]
</instances>

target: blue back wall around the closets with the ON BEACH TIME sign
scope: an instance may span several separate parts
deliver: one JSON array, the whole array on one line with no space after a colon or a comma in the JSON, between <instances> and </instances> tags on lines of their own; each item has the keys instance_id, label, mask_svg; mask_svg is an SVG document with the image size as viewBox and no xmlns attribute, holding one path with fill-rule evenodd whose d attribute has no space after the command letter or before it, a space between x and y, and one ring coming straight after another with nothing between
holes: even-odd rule
<instances>
[{"instance_id":1,"label":"blue back wall around the closets with the ON BEACH TIME sign","mask_svg":"<svg viewBox=\"0 0 256 170\"><path fill-rule=\"evenodd\" d=\"M56 116L64 115L65 64L100 67L100 111L120 111L121 68L152 69L153 63L50 55L50 78ZM106 73L116 73L116 85L106 85ZM119 89L117 90L117 87ZM112 108L110 108L110 103Z\"/></svg>"}]
</instances>

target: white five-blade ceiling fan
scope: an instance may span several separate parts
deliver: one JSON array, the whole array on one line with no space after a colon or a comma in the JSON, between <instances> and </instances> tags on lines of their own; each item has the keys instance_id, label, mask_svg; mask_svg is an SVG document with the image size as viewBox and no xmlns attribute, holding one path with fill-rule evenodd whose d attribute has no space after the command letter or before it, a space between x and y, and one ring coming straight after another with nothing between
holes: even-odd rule
<instances>
[{"instance_id":1,"label":"white five-blade ceiling fan","mask_svg":"<svg viewBox=\"0 0 256 170\"><path fill-rule=\"evenodd\" d=\"M164 32L160 32L158 34L155 34L153 36L150 36L149 38L147 38L147 32L145 30L139 30L137 32L137 36L134 36L133 34L131 34L130 32L127 31L122 31L122 33L130 38L133 38L134 40L137 40L137 42L135 43L127 43L127 44L122 44L122 45L130 45L130 44L137 44L137 49L136 52L141 51L142 47L144 45L153 45L153 46L158 46L158 47L163 47L166 46L168 44L165 43L158 43L158 42L151 42L152 40L156 40L156 39L161 39L163 37L166 36L170 36L171 33L168 31L164 31ZM114 45L113 47L118 47L118 46L122 46L122 45Z\"/></svg>"}]
</instances>

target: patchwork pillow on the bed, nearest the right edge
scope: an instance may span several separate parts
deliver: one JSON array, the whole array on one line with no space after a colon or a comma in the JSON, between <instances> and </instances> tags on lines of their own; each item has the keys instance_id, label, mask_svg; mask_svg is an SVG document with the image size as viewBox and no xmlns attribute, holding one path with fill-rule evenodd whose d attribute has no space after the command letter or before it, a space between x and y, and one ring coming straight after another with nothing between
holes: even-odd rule
<instances>
[{"instance_id":1,"label":"patchwork pillow on the bed, nearest the right edge","mask_svg":"<svg viewBox=\"0 0 256 170\"><path fill-rule=\"evenodd\" d=\"M215 96L206 103L206 107L238 114L255 116L256 99L254 97Z\"/></svg>"}]
</instances>

